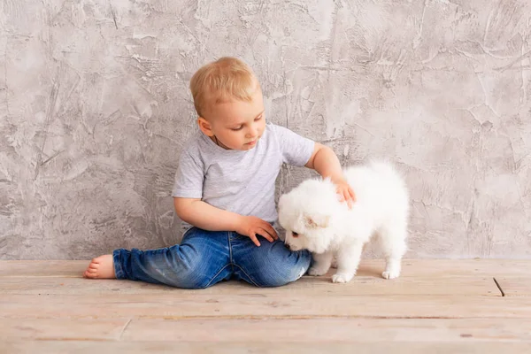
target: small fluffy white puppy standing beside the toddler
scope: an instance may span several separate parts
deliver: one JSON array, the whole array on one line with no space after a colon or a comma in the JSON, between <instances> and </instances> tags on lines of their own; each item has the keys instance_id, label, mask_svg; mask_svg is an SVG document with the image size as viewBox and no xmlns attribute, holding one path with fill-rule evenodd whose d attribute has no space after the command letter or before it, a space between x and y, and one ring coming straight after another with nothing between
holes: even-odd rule
<instances>
[{"instance_id":1,"label":"small fluffy white puppy standing beside the toddler","mask_svg":"<svg viewBox=\"0 0 531 354\"><path fill-rule=\"evenodd\" d=\"M310 250L310 275L327 273L336 258L334 282L348 282L356 275L366 242L378 240L387 264L385 279L400 275L406 250L409 218L408 191L392 165L372 162L343 171L356 194L349 209L341 203L329 179L303 181L279 200L279 223L286 230L291 250Z\"/></svg>"}]
</instances>

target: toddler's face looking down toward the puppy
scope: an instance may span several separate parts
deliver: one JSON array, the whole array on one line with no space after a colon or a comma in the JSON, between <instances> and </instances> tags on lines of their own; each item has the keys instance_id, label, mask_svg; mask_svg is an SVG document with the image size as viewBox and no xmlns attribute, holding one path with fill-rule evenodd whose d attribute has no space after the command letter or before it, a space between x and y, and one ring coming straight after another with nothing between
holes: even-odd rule
<instances>
[{"instance_id":1,"label":"toddler's face looking down toward the puppy","mask_svg":"<svg viewBox=\"0 0 531 354\"><path fill-rule=\"evenodd\" d=\"M215 104L199 119L204 134L227 150L250 150L264 134L266 116L259 85L250 102L231 101ZM208 120L207 120L208 119Z\"/></svg>"}]
</instances>

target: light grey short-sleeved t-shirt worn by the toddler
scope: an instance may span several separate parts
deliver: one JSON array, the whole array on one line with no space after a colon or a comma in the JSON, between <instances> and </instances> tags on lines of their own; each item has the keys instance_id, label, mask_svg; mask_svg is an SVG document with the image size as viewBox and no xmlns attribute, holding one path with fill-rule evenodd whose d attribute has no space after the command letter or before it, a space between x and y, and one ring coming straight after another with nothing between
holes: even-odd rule
<instances>
[{"instance_id":1,"label":"light grey short-sleeved t-shirt worn by the toddler","mask_svg":"<svg viewBox=\"0 0 531 354\"><path fill-rule=\"evenodd\" d=\"M172 196L199 198L219 209L273 223L281 165L305 165L313 148L312 140L271 123L257 145L246 151L225 150L198 132L181 151Z\"/></svg>"}]
</instances>

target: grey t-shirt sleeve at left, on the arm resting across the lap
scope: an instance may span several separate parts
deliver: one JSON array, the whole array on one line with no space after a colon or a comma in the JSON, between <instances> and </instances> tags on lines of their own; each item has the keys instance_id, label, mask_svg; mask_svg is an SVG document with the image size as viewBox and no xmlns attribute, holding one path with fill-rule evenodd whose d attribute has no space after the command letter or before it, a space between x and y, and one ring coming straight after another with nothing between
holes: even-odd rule
<instances>
[{"instance_id":1,"label":"grey t-shirt sleeve at left, on the arm resting across the lap","mask_svg":"<svg viewBox=\"0 0 531 354\"><path fill-rule=\"evenodd\" d=\"M203 166L198 152L183 150L175 173L172 196L201 199L204 181Z\"/></svg>"}]
</instances>

